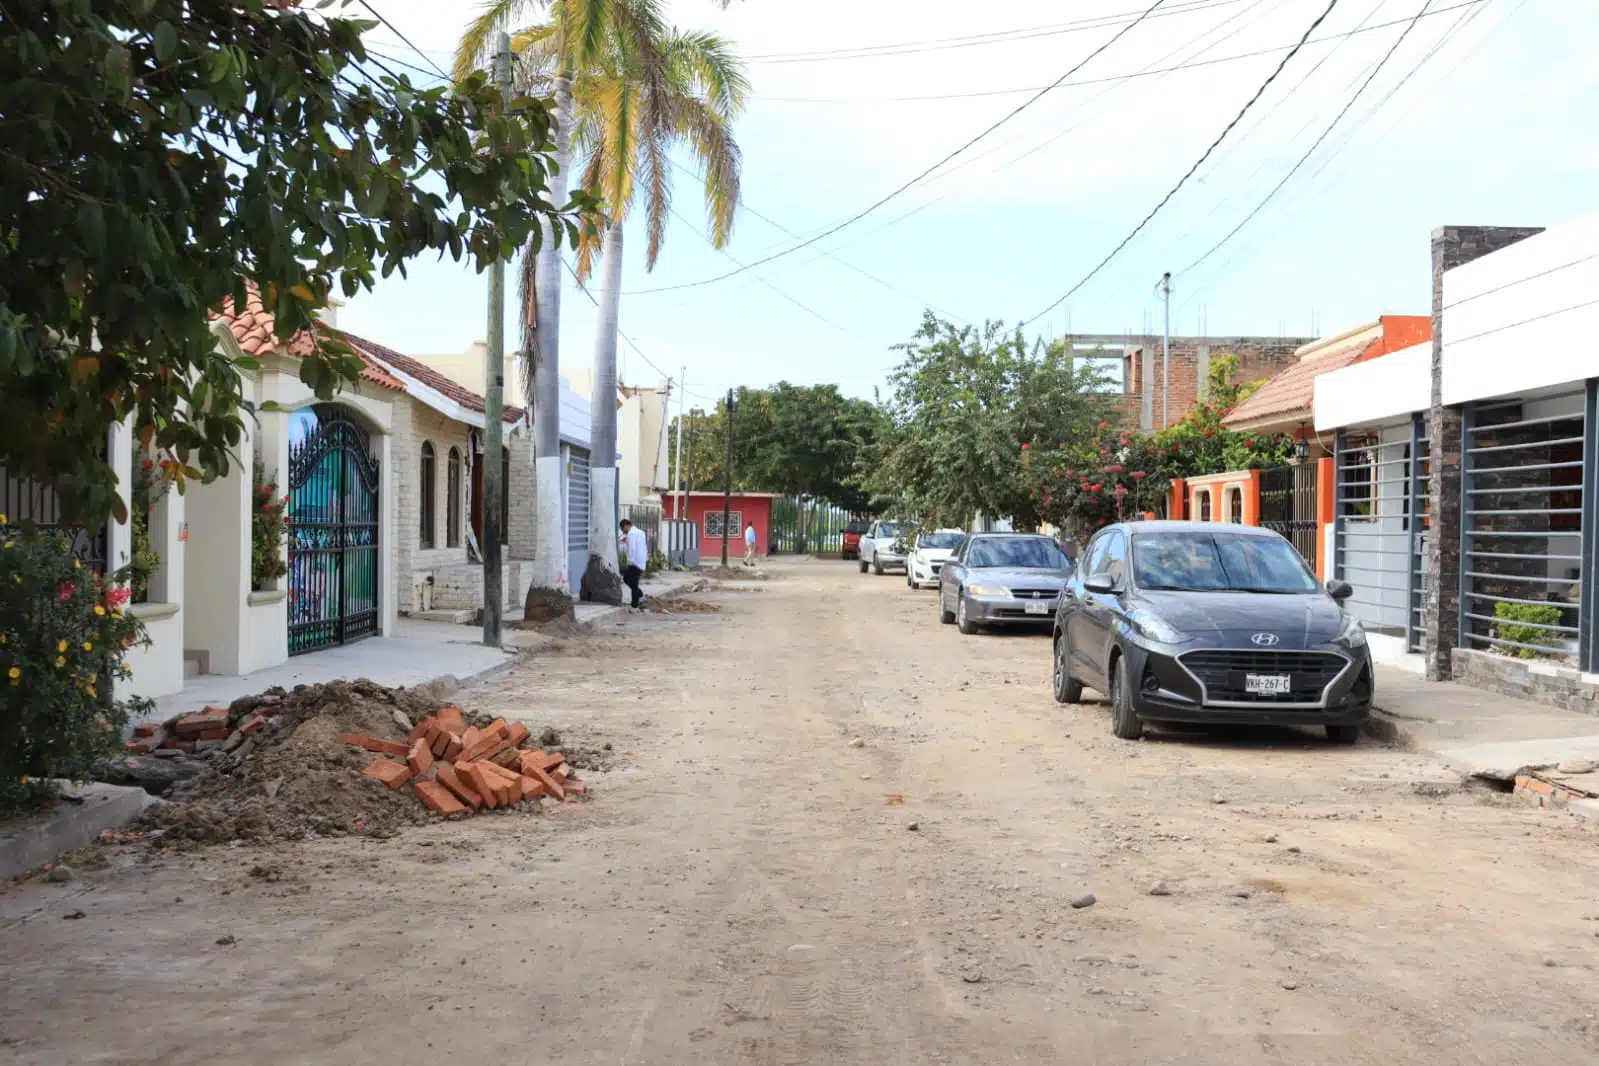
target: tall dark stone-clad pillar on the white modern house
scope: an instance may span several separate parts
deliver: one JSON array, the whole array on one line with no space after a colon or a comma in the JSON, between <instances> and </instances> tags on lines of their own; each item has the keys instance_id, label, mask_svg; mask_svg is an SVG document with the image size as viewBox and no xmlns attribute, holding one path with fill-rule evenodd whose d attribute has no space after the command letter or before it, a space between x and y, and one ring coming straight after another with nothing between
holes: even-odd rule
<instances>
[{"instance_id":1,"label":"tall dark stone-clad pillar on the white modern house","mask_svg":"<svg viewBox=\"0 0 1599 1066\"><path fill-rule=\"evenodd\" d=\"M1444 406L1444 272L1541 233L1537 227L1445 225L1433 230L1433 396L1426 416L1431 473L1422 588L1422 655L1428 681L1453 674L1460 633L1460 411Z\"/></svg>"}]
</instances>

